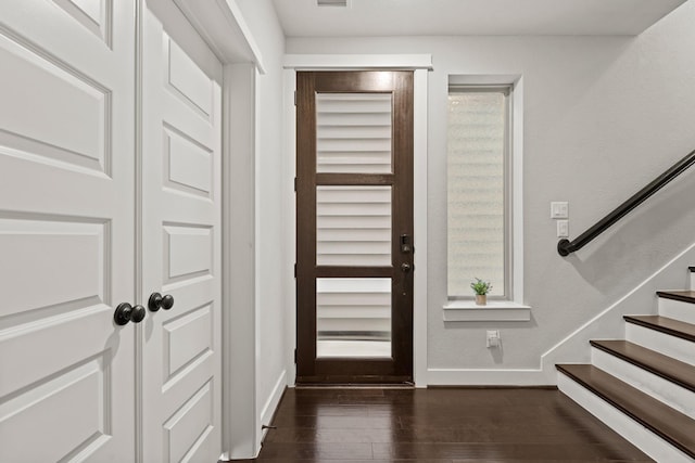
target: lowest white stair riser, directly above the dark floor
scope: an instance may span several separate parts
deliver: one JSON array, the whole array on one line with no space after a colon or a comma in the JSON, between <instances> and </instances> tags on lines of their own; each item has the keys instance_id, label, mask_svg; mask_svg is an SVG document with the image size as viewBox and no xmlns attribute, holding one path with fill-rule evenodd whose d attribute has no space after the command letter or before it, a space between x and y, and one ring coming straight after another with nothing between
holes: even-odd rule
<instances>
[{"instance_id":1,"label":"lowest white stair riser, directly above the dark floor","mask_svg":"<svg viewBox=\"0 0 695 463\"><path fill-rule=\"evenodd\" d=\"M657 462L693 463L693 459L563 373L557 387L616 433Z\"/></svg>"}]
</instances>

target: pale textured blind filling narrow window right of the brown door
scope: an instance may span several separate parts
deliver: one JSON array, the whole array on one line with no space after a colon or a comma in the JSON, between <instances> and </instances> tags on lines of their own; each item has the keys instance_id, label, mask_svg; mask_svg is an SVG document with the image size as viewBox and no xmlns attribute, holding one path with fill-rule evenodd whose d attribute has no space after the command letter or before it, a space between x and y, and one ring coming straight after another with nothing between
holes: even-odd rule
<instances>
[{"instance_id":1,"label":"pale textured blind filling narrow window right of the brown door","mask_svg":"<svg viewBox=\"0 0 695 463\"><path fill-rule=\"evenodd\" d=\"M447 133L447 286L472 296L475 278L491 296L509 293L508 88L450 88Z\"/></svg>"}]
</instances>

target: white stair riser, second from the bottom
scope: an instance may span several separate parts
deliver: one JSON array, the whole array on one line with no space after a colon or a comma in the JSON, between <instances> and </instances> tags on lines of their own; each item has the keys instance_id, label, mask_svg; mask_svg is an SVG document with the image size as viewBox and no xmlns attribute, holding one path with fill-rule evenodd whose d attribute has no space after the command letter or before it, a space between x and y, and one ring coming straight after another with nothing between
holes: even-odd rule
<instances>
[{"instance_id":1,"label":"white stair riser, second from the bottom","mask_svg":"<svg viewBox=\"0 0 695 463\"><path fill-rule=\"evenodd\" d=\"M592 364L695 420L695 393L592 347Z\"/></svg>"}]
</instances>

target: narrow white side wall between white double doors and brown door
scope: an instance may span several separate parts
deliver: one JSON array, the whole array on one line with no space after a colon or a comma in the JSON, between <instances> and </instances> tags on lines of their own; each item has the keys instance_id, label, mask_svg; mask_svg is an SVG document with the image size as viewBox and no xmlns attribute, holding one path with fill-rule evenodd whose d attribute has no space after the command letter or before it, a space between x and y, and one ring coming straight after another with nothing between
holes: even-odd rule
<instances>
[{"instance_id":1,"label":"narrow white side wall between white double doors and brown door","mask_svg":"<svg viewBox=\"0 0 695 463\"><path fill-rule=\"evenodd\" d=\"M269 424L285 388L287 345L282 278L281 127L285 36L270 0L236 0L260 53L265 74L256 76L256 411ZM249 308L251 309L251 308ZM233 374L233 373L232 373Z\"/></svg>"}]
</instances>

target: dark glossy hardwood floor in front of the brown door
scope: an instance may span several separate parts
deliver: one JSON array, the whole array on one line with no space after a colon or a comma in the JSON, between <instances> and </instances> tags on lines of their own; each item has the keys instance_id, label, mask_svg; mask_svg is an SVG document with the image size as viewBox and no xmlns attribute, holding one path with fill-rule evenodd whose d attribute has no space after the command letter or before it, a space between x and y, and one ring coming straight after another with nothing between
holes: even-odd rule
<instances>
[{"instance_id":1,"label":"dark glossy hardwood floor in front of the brown door","mask_svg":"<svg viewBox=\"0 0 695 463\"><path fill-rule=\"evenodd\" d=\"M263 462L650 462L556 389L288 389Z\"/></svg>"}]
</instances>

